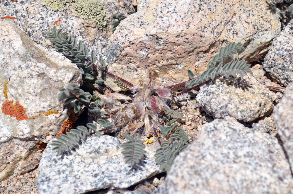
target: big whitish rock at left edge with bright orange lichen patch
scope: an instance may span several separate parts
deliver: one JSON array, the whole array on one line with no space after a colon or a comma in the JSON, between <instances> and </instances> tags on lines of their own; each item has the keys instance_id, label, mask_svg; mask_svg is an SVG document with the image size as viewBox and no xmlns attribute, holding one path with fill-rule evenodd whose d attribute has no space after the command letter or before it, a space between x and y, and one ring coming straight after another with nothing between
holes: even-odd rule
<instances>
[{"instance_id":1,"label":"big whitish rock at left edge with bright orange lichen patch","mask_svg":"<svg viewBox=\"0 0 293 194\"><path fill-rule=\"evenodd\" d=\"M48 142L68 118L67 108L57 100L60 84L80 83L81 73L7 19L0 20L0 69L2 181L38 164L41 153L35 141Z\"/></svg>"}]
</instances>

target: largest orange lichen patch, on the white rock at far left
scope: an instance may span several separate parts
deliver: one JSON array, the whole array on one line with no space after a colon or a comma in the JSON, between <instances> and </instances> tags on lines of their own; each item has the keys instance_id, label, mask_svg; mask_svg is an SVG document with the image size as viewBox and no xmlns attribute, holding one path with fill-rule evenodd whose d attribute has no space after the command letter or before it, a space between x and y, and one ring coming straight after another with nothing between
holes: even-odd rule
<instances>
[{"instance_id":1,"label":"largest orange lichen patch, on the white rock at far left","mask_svg":"<svg viewBox=\"0 0 293 194\"><path fill-rule=\"evenodd\" d=\"M16 117L16 120L27 120L28 116L25 114L25 110L23 106L18 103L13 104L12 101L6 100L4 103L2 103L1 107L2 113L6 115L10 115L11 117Z\"/></svg>"}]
</instances>

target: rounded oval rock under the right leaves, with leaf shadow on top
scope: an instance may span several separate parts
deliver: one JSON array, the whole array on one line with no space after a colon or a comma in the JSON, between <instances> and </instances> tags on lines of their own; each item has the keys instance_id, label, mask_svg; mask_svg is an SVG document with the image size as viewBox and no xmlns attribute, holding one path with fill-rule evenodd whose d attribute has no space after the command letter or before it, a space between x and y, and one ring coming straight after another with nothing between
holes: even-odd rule
<instances>
[{"instance_id":1,"label":"rounded oval rock under the right leaves, with leaf shadow on top","mask_svg":"<svg viewBox=\"0 0 293 194\"><path fill-rule=\"evenodd\" d=\"M200 87L197 103L214 118L226 115L239 121L253 121L269 114L277 96L246 79L216 79Z\"/></svg>"}]
</instances>

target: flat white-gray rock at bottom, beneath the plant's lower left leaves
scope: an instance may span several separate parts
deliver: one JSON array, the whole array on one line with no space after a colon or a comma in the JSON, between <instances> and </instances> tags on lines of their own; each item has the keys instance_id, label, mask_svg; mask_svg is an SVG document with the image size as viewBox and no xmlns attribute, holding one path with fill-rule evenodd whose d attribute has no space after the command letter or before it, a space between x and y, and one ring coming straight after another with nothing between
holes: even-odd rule
<instances>
[{"instance_id":1,"label":"flat white-gray rock at bottom, beneath the plant's lower left leaves","mask_svg":"<svg viewBox=\"0 0 293 194\"><path fill-rule=\"evenodd\" d=\"M48 143L39 164L39 194L84 193L104 188L127 188L159 173L154 149L147 151L137 169L125 164L121 141L111 136L92 136L72 154L56 156Z\"/></svg>"}]
</instances>

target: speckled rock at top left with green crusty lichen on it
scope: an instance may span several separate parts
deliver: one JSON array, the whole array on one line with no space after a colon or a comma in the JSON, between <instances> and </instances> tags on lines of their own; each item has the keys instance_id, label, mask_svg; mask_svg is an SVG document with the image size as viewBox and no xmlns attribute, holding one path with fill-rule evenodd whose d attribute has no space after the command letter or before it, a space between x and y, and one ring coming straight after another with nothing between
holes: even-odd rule
<instances>
[{"instance_id":1,"label":"speckled rock at top left with green crusty lichen on it","mask_svg":"<svg viewBox=\"0 0 293 194\"><path fill-rule=\"evenodd\" d=\"M131 0L103 0L103 10L106 11L106 24L103 29L93 21L82 19L74 16L73 3L65 4L64 11L53 11L50 6L42 5L42 0L34 1L16 1L11 2L2 0L0 3L0 13L5 16L13 16L16 25L26 33L35 42L40 43L44 47L49 47L51 43L47 39L46 31L54 26L54 21L61 19L55 26L71 33L77 40L82 40L89 48L96 51L97 57L104 55L105 47L108 39L112 35L111 16L124 13L126 16L135 12ZM49 0L46 0L49 1ZM50 0L53 2L53 0ZM56 0L60 2L59 0ZM62 0L62 2L73 2L70 0ZM122 7L122 3L124 7ZM2 15L1 15L2 17Z\"/></svg>"}]
</instances>

